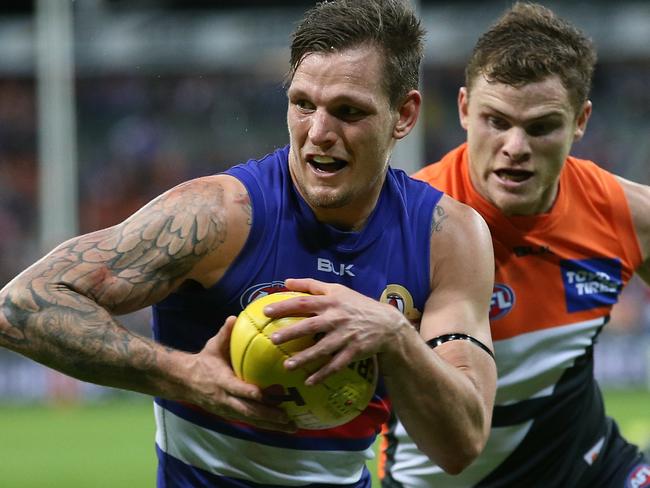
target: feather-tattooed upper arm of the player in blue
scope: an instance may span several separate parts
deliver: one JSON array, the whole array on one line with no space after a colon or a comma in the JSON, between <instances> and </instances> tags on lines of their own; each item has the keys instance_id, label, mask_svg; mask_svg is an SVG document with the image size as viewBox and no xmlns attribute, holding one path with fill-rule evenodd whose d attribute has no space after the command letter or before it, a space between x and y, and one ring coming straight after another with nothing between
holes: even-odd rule
<instances>
[{"instance_id":1,"label":"feather-tattooed upper arm of the player in blue","mask_svg":"<svg viewBox=\"0 0 650 488\"><path fill-rule=\"evenodd\" d=\"M115 312L135 310L164 298L226 235L223 186L214 179L193 180L121 224L62 244L31 278L45 288L67 287Z\"/></svg>"}]
</instances>

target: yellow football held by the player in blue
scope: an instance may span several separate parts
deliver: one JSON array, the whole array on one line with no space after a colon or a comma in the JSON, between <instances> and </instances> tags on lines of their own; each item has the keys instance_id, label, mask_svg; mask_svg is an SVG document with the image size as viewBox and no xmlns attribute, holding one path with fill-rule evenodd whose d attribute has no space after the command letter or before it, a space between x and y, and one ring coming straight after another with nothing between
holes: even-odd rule
<instances>
[{"instance_id":1,"label":"yellow football held by the player in blue","mask_svg":"<svg viewBox=\"0 0 650 488\"><path fill-rule=\"evenodd\" d=\"M262 310L270 303L305 295L279 292L251 302L239 314L230 339L230 359L235 374L263 389L268 402L283 408L301 429L328 429L349 422L368 405L377 385L375 356L350 363L313 386L305 380L326 362L315 361L289 371L284 361L316 343L316 337L303 336L275 345L270 336L304 317L272 320Z\"/></svg>"}]
</instances>

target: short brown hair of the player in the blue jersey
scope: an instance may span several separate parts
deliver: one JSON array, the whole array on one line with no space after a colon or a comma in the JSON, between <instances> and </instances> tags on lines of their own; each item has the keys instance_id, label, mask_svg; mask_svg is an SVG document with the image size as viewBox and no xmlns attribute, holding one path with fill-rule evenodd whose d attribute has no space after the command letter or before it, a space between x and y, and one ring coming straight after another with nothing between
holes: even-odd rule
<instances>
[{"instance_id":1,"label":"short brown hair of the player in the blue jersey","mask_svg":"<svg viewBox=\"0 0 650 488\"><path fill-rule=\"evenodd\" d=\"M291 81L310 53L370 44L384 55L383 85L391 106L418 88L424 29L408 0L332 0L305 13L292 36Z\"/></svg>"}]
</instances>

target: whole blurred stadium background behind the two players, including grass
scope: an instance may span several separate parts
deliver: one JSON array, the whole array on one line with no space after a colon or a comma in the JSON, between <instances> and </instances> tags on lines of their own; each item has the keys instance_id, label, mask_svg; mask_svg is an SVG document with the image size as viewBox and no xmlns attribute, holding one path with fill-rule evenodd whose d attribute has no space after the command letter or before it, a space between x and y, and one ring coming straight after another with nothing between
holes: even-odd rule
<instances>
[{"instance_id":1,"label":"whole blurred stadium background behind the two players, including grass","mask_svg":"<svg viewBox=\"0 0 650 488\"><path fill-rule=\"evenodd\" d=\"M289 33L314 3L0 2L0 286L77 232L115 224L185 179L284 145ZM394 157L408 171L463 140L455 101L464 62L478 33L510 4L414 3L428 38L423 116ZM650 2L541 3L586 30L599 50L594 115L574 153L650 184ZM150 334L147 311L124 321ZM616 307L596 355L608 398L619 402L613 408L645 443L650 293L638 281ZM110 478L120 471L129 486L151 485L149 410L139 395L80 383L0 350L0 444L13 456L0 451L0 476L13 469L20 481L6 486L45 486L29 466L70 472L62 461L69 453L77 478L57 485L53 476L47 486L126 486ZM73 419L82 419L79 427ZM103 459L94 449L110 449L111 436L125 458L144 457L137 467L142 484L125 474L125 461L93 471L89 460ZM131 450L135 444L142 449ZM36 446L47 462L28 454ZM94 477L83 474L88 470Z\"/></svg>"}]
</instances>

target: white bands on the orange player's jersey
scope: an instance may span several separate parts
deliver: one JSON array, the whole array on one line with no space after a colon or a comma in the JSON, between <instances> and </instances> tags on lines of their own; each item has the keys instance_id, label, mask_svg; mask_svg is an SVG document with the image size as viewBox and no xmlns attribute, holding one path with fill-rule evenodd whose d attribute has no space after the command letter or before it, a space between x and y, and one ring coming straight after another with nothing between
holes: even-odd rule
<instances>
[{"instance_id":1,"label":"white bands on the orange player's jersey","mask_svg":"<svg viewBox=\"0 0 650 488\"><path fill-rule=\"evenodd\" d=\"M494 341L499 371L497 404L550 396L566 369L593 344L606 318L542 329ZM522 442L533 420L493 427L481 456L459 475L451 476L431 463L415 446L398 421L390 474L409 488L467 488L494 471Z\"/></svg>"}]
</instances>

